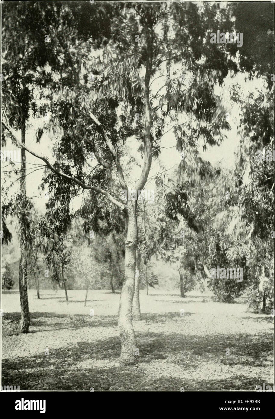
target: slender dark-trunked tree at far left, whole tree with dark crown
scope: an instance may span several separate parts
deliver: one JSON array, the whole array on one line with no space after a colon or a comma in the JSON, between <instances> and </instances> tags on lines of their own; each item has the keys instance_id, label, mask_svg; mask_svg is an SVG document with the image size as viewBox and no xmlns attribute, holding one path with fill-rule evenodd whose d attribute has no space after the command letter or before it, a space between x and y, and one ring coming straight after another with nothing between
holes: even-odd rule
<instances>
[{"instance_id":1,"label":"slender dark-trunked tree at far left, whole tree with dark crown","mask_svg":"<svg viewBox=\"0 0 275 419\"><path fill-rule=\"evenodd\" d=\"M33 239L28 231L31 225L29 215L32 204L26 195L28 168L24 145L31 114L33 116L41 115L46 111L41 102L39 105L39 96L37 97L35 91L37 85L45 86L49 81L44 66L46 63L54 68L57 68L57 63L60 66L60 62L56 59L58 57L57 51L53 51L52 47L49 47L49 44L45 42L47 38L45 37L44 27L49 22L54 24L54 18L54 8L44 5L42 10L39 2L33 4L29 2L5 3L5 5L2 5L3 113L8 124L16 131L20 131L22 145L21 168L18 170L18 168L13 167L13 170L10 171L13 175L18 176L19 174L20 192L11 201L8 193L5 194L5 197L12 203L9 207L9 213L18 217L20 226L21 257L18 282L22 333L28 333L30 324L27 292L27 252ZM46 96L45 91L43 96ZM6 142L9 137L8 127L3 124L3 128L2 140ZM39 132L37 134L39 136ZM12 138L12 140L14 139Z\"/></svg>"}]
</instances>

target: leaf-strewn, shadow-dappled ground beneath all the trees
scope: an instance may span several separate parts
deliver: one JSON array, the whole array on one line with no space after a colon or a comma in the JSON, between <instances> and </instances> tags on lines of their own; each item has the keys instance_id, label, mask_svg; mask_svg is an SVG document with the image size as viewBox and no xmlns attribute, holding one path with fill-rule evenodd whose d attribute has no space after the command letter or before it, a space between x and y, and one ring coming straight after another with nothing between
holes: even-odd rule
<instances>
[{"instance_id":1,"label":"leaf-strewn, shadow-dappled ground beneath all the trees","mask_svg":"<svg viewBox=\"0 0 275 419\"><path fill-rule=\"evenodd\" d=\"M18 334L18 291L2 294L2 385L21 390L250 390L274 383L273 320L210 295L141 291L138 363L119 367L119 294L29 290L31 327ZM90 316L93 309L94 316ZM184 310L181 311L181 310ZM182 313L182 315L181 315ZM91 312L92 314L92 312ZM184 316L183 316L184 314ZM226 355L227 354L227 355Z\"/></svg>"}]
</instances>

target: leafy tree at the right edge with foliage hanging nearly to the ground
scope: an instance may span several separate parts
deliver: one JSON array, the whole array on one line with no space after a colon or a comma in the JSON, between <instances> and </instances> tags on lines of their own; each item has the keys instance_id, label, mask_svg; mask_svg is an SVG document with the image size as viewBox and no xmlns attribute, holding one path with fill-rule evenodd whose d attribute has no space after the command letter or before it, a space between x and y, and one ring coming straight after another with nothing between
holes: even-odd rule
<instances>
[{"instance_id":1,"label":"leafy tree at the right edge with foliage hanging nearly to the ground","mask_svg":"<svg viewBox=\"0 0 275 419\"><path fill-rule=\"evenodd\" d=\"M231 5L236 30L247 41L240 50L240 66L249 78L257 77L257 88L247 97L233 91L239 103L241 143L234 172L239 214L244 223L249 269L248 303L268 311L274 304L274 5L255 3ZM251 30L253 28L253 30Z\"/></svg>"}]
</instances>

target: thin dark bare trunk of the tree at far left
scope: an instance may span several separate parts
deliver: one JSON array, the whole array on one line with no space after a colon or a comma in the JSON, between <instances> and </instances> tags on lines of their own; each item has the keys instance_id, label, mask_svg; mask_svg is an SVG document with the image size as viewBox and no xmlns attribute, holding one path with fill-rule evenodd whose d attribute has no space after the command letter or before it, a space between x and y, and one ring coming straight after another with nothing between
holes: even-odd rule
<instances>
[{"instance_id":1,"label":"thin dark bare trunk of the tree at far left","mask_svg":"<svg viewBox=\"0 0 275 419\"><path fill-rule=\"evenodd\" d=\"M26 124L23 120L21 127L21 142L25 144ZM24 213L26 210L26 150L21 148L21 178L20 178L20 194L21 194L21 220L20 220L20 261L19 261L19 296L21 306L21 333L29 333L30 313L28 302L28 288L27 288L27 260L23 243L25 236Z\"/></svg>"}]
</instances>

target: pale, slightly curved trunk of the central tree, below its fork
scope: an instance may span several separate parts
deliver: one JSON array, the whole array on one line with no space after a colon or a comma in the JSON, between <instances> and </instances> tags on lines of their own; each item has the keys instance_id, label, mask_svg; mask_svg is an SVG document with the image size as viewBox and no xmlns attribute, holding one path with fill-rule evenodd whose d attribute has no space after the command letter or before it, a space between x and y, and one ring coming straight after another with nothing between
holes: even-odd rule
<instances>
[{"instance_id":1,"label":"pale, slightly curved trunk of the central tree, below its fork","mask_svg":"<svg viewBox=\"0 0 275 419\"><path fill-rule=\"evenodd\" d=\"M135 260L138 242L137 201L127 204L128 226L125 241L125 279L119 302L118 327L121 341L120 365L135 363L137 349L132 324L132 301L135 292Z\"/></svg>"}]
</instances>

